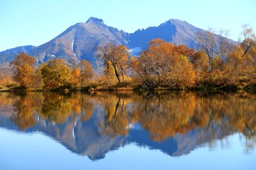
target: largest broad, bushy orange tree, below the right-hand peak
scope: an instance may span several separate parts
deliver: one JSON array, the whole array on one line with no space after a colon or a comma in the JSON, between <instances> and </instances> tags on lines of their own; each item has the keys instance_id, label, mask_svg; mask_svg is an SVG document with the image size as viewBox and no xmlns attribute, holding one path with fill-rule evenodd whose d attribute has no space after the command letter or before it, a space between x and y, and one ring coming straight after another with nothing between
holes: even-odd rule
<instances>
[{"instance_id":1,"label":"largest broad, bushy orange tree, below the right-hand peak","mask_svg":"<svg viewBox=\"0 0 256 170\"><path fill-rule=\"evenodd\" d=\"M148 42L148 49L142 52L140 58L131 58L130 65L146 88L170 84L176 87L182 84L190 86L191 84L184 82L192 80L194 75L187 56L182 55L174 44L160 39ZM192 83L193 80L188 82Z\"/></svg>"}]
</instances>

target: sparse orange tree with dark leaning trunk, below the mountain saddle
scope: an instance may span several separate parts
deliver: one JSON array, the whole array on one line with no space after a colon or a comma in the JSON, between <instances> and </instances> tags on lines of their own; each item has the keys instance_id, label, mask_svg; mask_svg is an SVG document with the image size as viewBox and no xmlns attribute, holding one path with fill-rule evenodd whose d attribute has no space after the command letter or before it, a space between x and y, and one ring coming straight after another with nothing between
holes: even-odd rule
<instances>
[{"instance_id":1,"label":"sparse orange tree with dark leaning trunk, below the mountain saddle","mask_svg":"<svg viewBox=\"0 0 256 170\"><path fill-rule=\"evenodd\" d=\"M126 46L124 45L114 45L109 43L104 47L98 46L98 57L104 60L105 67L110 61L114 67L115 76L117 77L118 82L121 82L120 76L124 79L125 71L127 67L128 54Z\"/></svg>"}]
</instances>

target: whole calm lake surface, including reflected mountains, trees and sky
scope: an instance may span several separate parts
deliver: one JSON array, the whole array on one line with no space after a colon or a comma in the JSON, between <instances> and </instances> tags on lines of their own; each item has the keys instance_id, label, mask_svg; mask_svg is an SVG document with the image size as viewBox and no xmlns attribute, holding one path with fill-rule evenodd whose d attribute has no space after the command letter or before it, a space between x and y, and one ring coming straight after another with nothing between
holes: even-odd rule
<instances>
[{"instance_id":1,"label":"whole calm lake surface, including reflected mountains, trees and sky","mask_svg":"<svg viewBox=\"0 0 256 170\"><path fill-rule=\"evenodd\" d=\"M0 93L0 169L256 169L252 92Z\"/></svg>"}]
</instances>

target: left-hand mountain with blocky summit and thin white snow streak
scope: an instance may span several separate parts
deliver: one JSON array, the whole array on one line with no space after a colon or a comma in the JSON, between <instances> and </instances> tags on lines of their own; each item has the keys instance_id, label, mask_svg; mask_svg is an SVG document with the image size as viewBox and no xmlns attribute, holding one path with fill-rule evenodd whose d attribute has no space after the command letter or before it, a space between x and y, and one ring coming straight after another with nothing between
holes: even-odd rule
<instances>
[{"instance_id":1,"label":"left-hand mountain with blocky summit and thin white snow streak","mask_svg":"<svg viewBox=\"0 0 256 170\"><path fill-rule=\"evenodd\" d=\"M63 58L65 61L87 59L93 62L95 47L104 46L108 42L127 44L126 33L108 27L101 19L90 18L86 23L72 25L59 36L28 54L38 57L40 62L55 57Z\"/></svg>"}]
</instances>

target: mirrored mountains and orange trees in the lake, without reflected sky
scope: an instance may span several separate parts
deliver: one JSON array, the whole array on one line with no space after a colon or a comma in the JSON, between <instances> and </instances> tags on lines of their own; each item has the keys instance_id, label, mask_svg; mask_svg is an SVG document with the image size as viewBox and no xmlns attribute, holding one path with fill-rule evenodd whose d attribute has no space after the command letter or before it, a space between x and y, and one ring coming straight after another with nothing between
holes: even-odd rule
<instances>
[{"instance_id":1,"label":"mirrored mountains and orange trees in the lake, without reflected sky","mask_svg":"<svg viewBox=\"0 0 256 170\"><path fill-rule=\"evenodd\" d=\"M0 127L42 131L68 150L102 159L135 143L171 156L214 147L234 133L256 139L256 95L241 92L27 92L0 94Z\"/></svg>"}]
</instances>

